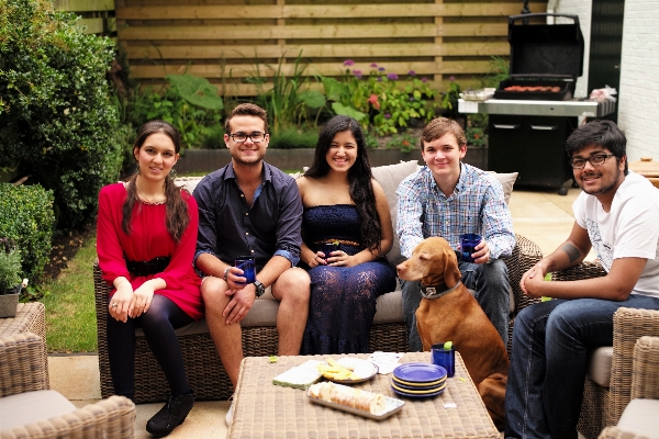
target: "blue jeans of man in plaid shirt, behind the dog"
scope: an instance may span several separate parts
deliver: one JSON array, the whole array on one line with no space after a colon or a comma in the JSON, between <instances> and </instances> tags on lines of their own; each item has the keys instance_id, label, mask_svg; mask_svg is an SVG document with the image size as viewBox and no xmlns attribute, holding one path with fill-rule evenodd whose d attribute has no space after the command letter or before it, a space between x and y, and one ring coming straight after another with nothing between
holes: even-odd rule
<instances>
[{"instance_id":1,"label":"blue jeans of man in plaid shirt, behind the dog","mask_svg":"<svg viewBox=\"0 0 659 439\"><path fill-rule=\"evenodd\" d=\"M490 263L460 262L458 268L462 274L462 283L469 290L476 291L477 302L496 328L503 345L507 346L511 284L505 262L502 259L495 259ZM421 282L401 281L401 290L409 349L410 352L418 352L423 349L416 329L415 313L421 303Z\"/></svg>"}]
</instances>

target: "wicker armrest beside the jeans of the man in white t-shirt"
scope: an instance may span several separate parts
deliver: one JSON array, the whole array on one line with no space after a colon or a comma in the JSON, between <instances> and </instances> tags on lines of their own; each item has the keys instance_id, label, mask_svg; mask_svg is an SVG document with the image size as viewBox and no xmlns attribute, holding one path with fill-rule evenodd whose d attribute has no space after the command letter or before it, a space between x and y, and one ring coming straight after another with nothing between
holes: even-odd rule
<instances>
[{"instance_id":1,"label":"wicker armrest beside the jeans of the man in white t-shirt","mask_svg":"<svg viewBox=\"0 0 659 439\"><path fill-rule=\"evenodd\" d=\"M632 399L634 350L643 336L659 334L659 311L621 307L613 315L613 360L611 364L611 424L617 424ZM645 344L643 348L645 349ZM656 349L657 341L651 342ZM643 354L639 353L639 357ZM655 380L657 378L655 376Z\"/></svg>"}]
</instances>

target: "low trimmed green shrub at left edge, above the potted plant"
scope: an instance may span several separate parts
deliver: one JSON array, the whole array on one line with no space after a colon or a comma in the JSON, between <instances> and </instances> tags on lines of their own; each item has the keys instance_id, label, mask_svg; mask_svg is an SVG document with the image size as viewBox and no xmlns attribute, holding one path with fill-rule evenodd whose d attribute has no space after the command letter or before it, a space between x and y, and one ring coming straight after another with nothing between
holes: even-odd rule
<instances>
[{"instance_id":1,"label":"low trimmed green shrub at left edge, above the potted plant","mask_svg":"<svg viewBox=\"0 0 659 439\"><path fill-rule=\"evenodd\" d=\"M23 275L37 278L51 255L53 192L41 185L0 183L0 236L21 250Z\"/></svg>"}]
</instances>

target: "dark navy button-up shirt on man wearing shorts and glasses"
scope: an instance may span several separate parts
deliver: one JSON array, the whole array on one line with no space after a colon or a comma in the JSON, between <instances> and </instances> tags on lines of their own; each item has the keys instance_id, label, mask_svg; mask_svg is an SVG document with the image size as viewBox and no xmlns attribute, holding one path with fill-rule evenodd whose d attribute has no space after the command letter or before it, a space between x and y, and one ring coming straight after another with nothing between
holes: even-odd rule
<instances>
[{"instance_id":1,"label":"dark navy button-up shirt on man wearing shorts and glasses","mask_svg":"<svg viewBox=\"0 0 659 439\"><path fill-rule=\"evenodd\" d=\"M196 261L205 252L231 266L238 256L254 256L257 270L272 256L298 264L302 201L289 175L264 162L264 181L249 206L228 164L199 182L194 199L199 205Z\"/></svg>"}]
</instances>

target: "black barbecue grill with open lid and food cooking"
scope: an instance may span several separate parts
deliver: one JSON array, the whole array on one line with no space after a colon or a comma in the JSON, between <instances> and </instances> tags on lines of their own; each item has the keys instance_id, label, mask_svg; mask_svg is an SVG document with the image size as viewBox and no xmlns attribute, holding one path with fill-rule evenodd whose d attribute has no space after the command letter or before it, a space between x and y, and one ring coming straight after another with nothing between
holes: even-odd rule
<instances>
[{"instance_id":1,"label":"black barbecue grill with open lid and food cooking","mask_svg":"<svg viewBox=\"0 0 659 439\"><path fill-rule=\"evenodd\" d=\"M566 24L532 19L565 18ZM615 111L612 101L574 99L583 72L583 35L577 15L532 13L509 18L510 78L492 99L458 101L460 113L488 113L488 169L518 172L516 185L558 189L572 170L565 151L578 116L601 117Z\"/></svg>"}]
</instances>

